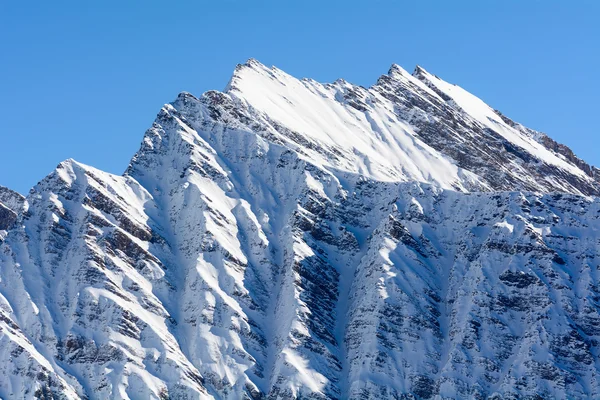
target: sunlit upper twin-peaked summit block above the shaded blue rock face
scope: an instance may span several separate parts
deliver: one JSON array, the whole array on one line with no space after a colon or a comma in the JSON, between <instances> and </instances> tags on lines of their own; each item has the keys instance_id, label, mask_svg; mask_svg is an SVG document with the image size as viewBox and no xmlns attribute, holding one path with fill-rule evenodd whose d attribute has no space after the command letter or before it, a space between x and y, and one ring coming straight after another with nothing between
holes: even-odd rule
<instances>
[{"instance_id":1,"label":"sunlit upper twin-peaked summit block above the shaded blue rock face","mask_svg":"<svg viewBox=\"0 0 600 400\"><path fill-rule=\"evenodd\" d=\"M459 190L511 190L518 184L542 192L597 193L591 167L565 158L545 135L504 122L475 96L421 67L411 75L394 64L365 89L345 81L300 81L251 60L236 68L226 93L291 131L283 133L288 143L302 139L303 152L322 165ZM436 114L437 121L429 118ZM483 149L475 148L479 143ZM498 171L484 171L477 165L481 159ZM536 178L524 181L531 175Z\"/></svg>"}]
</instances>

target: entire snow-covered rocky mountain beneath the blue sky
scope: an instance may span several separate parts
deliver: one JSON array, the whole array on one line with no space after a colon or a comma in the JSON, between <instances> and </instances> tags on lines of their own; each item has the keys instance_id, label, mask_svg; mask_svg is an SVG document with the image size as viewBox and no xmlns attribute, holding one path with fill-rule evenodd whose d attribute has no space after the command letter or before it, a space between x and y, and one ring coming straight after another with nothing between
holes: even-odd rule
<instances>
[{"instance_id":1,"label":"entire snow-covered rocky mountain beneath the blue sky","mask_svg":"<svg viewBox=\"0 0 600 400\"><path fill-rule=\"evenodd\" d=\"M0 188L0 397L600 397L598 176L420 67L249 60Z\"/></svg>"}]
</instances>

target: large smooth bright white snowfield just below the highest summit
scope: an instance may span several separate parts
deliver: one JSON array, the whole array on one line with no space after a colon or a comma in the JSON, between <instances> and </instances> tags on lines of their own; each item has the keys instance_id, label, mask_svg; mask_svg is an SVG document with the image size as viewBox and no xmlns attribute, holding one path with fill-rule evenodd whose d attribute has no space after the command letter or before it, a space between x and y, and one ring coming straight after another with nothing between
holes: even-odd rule
<instances>
[{"instance_id":1,"label":"large smooth bright white snowfield just below the highest summit","mask_svg":"<svg viewBox=\"0 0 600 400\"><path fill-rule=\"evenodd\" d=\"M340 81L298 80L252 62L238 67L227 93L309 142L339 150L347 160L336 165L311 153L313 162L384 181L429 181L445 188L461 181L459 168L420 142L410 125L395 118L393 106L357 111L343 100L347 89L356 88ZM385 104L381 97L377 101Z\"/></svg>"}]
</instances>

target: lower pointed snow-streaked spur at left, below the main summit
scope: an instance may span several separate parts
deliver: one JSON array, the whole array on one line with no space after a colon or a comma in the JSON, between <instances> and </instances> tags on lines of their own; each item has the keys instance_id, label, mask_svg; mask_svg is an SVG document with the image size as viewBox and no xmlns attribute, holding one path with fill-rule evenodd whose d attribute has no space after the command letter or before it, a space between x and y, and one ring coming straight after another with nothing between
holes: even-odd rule
<instances>
[{"instance_id":1,"label":"lower pointed snow-streaked spur at left, below the main summit","mask_svg":"<svg viewBox=\"0 0 600 400\"><path fill-rule=\"evenodd\" d=\"M67 388L38 378L36 391L73 398L203 393L153 293L168 288L154 282L164 271L145 248L149 201L135 181L71 160L30 193L23 225L3 247L0 286L13 329L46 357L42 371ZM5 361L15 375L27 372Z\"/></svg>"}]
</instances>

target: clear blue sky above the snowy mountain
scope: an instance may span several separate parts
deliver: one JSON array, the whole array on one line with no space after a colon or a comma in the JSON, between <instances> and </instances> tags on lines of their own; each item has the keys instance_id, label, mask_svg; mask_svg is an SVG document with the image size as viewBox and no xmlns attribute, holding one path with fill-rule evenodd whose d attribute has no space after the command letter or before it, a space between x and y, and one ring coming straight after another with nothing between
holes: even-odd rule
<instances>
[{"instance_id":1,"label":"clear blue sky above the snowy mountain","mask_svg":"<svg viewBox=\"0 0 600 400\"><path fill-rule=\"evenodd\" d=\"M74 158L122 173L162 104L250 57L369 86L392 63L598 154L600 1L3 1L0 185Z\"/></svg>"}]
</instances>

